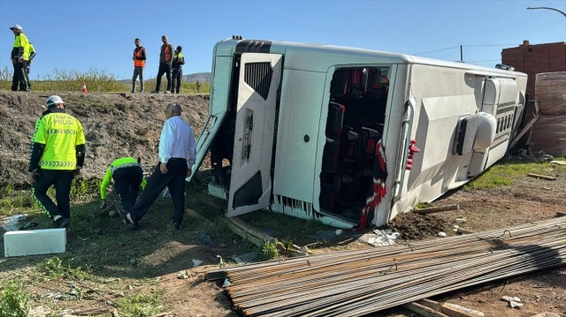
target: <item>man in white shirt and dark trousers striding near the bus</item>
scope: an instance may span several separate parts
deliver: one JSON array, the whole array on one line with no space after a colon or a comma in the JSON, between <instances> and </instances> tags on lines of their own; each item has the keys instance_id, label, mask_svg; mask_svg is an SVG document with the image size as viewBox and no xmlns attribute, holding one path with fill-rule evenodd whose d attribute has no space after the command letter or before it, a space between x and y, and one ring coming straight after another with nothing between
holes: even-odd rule
<instances>
[{"instance_id":1,"label":"man in white shirt and dark trousers striding near the bus","mask_svg":"<svg viewBox=\"0 0 566 317\"><path fill-rule=\"evenodd\" d=\"M165 186L169 188L173 201L172 225L175 230L180 229L185 213L185 178L191 176L196 159L195 135L191 126L180 117L180 112L178 103L169 103L165 107L165 123L159 139L159 164L149 177L134 212L125 215L132 229L138 228L138 222Z\"/></svg>"}]
</instances>

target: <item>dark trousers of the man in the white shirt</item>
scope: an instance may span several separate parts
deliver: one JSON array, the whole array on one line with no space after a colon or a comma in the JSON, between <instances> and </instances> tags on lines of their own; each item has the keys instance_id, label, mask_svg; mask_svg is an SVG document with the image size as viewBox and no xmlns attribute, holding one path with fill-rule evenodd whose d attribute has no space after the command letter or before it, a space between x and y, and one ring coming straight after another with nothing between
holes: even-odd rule
<instances>
[{"instance_id":1,"label":"dark trousers of the man in the white shirt","mask_svg":"<svg viewBox=\"0 0 566 317\"><path fill-rule=\"evenodd\" d=\"M157 164L156 170L148 179L148 184L142 192L142 197L134 207L132 219L138 222L148 213L149 208L157 200L157 197L165 187L169 188L171 199L173 201L173 223L181 223L185 213L185 178L187 177L187 160L181 158L171 158L167 162L167 174L163 174L159 170Z\"/></svg>"}]
</instances>

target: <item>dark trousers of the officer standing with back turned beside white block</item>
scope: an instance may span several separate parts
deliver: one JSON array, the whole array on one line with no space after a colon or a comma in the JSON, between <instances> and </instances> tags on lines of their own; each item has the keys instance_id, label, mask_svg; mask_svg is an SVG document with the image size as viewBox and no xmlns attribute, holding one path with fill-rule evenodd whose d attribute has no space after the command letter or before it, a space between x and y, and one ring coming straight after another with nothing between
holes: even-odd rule
<instances>
[{"instance_id":1,"label":"dark trousers of the officer standing with back turned beside white block","mask_svg":"<svg viewBox=\"0 0 566 317\"><path fill-rule=\"evenodd\" d=\"M71 219L71 202L69 194L71 193L71 184L73 183L73 170L37 170L35 175L35 183L32 187L32 194L40 207L54 217L56 215L65 215ZM55 185L55 199L57 205L47 195L47 190L51 185Z\"/></svg>"}]
</instances>

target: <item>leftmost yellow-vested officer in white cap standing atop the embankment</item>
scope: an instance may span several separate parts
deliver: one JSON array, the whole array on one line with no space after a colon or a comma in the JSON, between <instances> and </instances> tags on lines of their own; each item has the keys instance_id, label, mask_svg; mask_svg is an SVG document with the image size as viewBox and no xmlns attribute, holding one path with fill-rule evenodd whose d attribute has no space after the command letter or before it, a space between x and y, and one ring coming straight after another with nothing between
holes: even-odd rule
<instances>
[{"instance_id":1,"label":"leftmost yellow-vested officer in white cap standing atop the embankment","mask_svg":"<svg viewBox=\"0 0 566 317\"><path fill-rule=\"evenodd\" d=\"M29 91L29 79L27 78L27 63L29 61L29 41L27 36L21 32L21 26L10 27L15 35L14 47L11 49L11 63L14 66L14 74L11 79L11 91Z\"/></svg>"}]
</instances>

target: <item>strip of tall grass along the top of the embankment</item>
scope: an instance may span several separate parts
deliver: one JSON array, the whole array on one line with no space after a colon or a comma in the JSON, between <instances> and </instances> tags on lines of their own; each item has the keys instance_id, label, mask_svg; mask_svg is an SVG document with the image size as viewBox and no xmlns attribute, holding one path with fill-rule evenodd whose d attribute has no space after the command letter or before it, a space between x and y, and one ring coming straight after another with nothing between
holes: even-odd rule
<instances>
[{"instance_id":1,"label":"strip of tall grass along the top of the embankment","mask_svg":"<svg viewBox=\"0 0 566 317\"><path fill-rule=\"evenodd\" d=\"M34 64L32 64L32 74ZM11 90L12 70L8 66L0 69L0 90ZM129 93L132 85L119 81L117 76L107 70L89 69L86 72L56 68L52 74L30 78L34 92L80 92L82 83L87 86L89 93ZM162 89L166 80L162 80ZM181 94L210 94L210 83L181 82ZM152 91L156 87L155 79L145 81L145 90ZM138 87L139 89L139 82Z\"/></svg>"}]
</instances>

